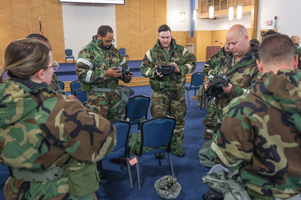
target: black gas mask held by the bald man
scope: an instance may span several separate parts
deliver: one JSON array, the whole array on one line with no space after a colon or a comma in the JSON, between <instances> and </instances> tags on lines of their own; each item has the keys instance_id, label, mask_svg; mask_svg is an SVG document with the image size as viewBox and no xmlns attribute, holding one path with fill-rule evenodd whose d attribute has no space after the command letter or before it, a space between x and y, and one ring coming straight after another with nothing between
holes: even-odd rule
<instances>
[{"instance_id":1,"label":"black gas mask held by the bald man","mask_svg":"<svg viewBox=\"0 0 301 200\"><path fill-rule=\"evenodd\" d=\"M230 79L225 74L220 74L219 76L214 76L209 81L209 86L207 87L205 94L207 97L220 98L223 94L222 87L227 87L230 83Z\"/></svg>"}]
</instances>

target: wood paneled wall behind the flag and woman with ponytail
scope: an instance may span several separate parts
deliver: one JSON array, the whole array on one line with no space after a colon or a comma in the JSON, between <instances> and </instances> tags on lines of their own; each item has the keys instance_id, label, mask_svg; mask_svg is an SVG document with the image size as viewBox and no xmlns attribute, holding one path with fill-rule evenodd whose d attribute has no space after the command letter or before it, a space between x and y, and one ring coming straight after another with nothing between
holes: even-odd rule
<instances>
[{"instance_id":1,"label":"wood paneled wall behind the flag and woman with ponytail","mask_svg":"<svg viewBox=\"0 0 301 200\"><path fill-rule=\"evenodd\" d=\"M31 33L40 33L39 16L43 35L52 46L53 59L65 61L61 3L57 0L0 0L0 5L0 65L4 64L9 43Z\"/></svg>"}]
</instances>

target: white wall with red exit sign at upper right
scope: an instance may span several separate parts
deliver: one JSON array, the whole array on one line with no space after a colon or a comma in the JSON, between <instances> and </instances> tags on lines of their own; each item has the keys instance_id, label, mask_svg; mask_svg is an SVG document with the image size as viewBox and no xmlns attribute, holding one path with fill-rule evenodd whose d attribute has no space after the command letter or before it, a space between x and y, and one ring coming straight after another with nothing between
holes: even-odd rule
<instances>
[{"instance_id":1,"label":"white wall with red exit sign at upper right","mask_svg":"<svg viewBox=\"0 0 301 200\"><path fill-rule=\"evenodd\" d=\"M301 27L299 25L299 9L301 7L300 0L259 0L259 18L258 18L258 32L265 29L274 29L275 16L277 19L278 32L301 36ZM266 25L267 20L273 20L272 25Z\"/></svg>"}]
</instances>

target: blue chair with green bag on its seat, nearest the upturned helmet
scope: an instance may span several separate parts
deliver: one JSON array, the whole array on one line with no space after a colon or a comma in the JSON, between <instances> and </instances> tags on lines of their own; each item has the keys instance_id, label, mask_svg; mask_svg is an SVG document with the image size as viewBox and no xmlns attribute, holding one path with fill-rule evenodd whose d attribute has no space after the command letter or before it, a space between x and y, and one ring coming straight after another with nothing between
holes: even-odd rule
<instances>
[{"instance_id":1,"label":"blue chair with green bag on its seat, nearest the upturned helmet","mask_svg":"<svg viewBox=\"0 0 301 200\"><path fill-rule=\"evenodd\" d=\"M144 120L141 123L141 146L138 154L139 157L141 157L141 155L160 154L159 165L161 165L161 153L167 152L172 176L174 176L174 173L170 149L172 142L172 133L175 129L175 123L175 118L166 115ZM162 147L166 144L168 144L167 148L159 149L159 147ZM154 148L154 150L142 152L144 146ZM138 163L136 163L136 172L138 179L138 189L141 189Z\"/></svg>"}]
</instances>

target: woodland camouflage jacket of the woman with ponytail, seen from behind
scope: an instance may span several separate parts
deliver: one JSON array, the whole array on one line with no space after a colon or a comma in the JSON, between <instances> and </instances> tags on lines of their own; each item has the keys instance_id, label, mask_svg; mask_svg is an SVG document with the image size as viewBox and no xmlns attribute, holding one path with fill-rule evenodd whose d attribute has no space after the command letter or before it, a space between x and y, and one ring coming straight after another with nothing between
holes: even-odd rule
<instances>
[{"instance_id":1,"label":"woodland camouflage jacket of the woman with ponytail, seen from behind","mask_svg":"<svg viewBox=\"0 0 301 200\"><path fill-rule=\"evenodd\" d=\"M70 157L96 162L113 151L116 129L45 82L11 79L0 84L0 163L27 170L62 166ZM50 199L69 192L68 178L26 182L10 177L6 199ZM21 193L21 194L20 194Z\"/></svg>"}]
</instances>

